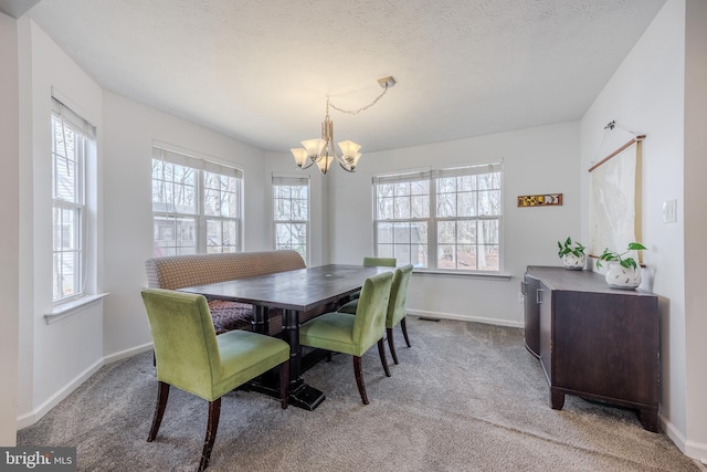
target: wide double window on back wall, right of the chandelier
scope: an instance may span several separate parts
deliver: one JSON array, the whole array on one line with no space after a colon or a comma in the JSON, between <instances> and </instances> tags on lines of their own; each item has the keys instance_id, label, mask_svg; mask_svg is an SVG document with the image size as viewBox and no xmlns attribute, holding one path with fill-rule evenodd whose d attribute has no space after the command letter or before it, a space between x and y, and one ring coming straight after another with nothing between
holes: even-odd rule
<instances>
[{"instance_id":1,"label":"wide double window on back wall, right of the chandelier","mask_svg":"<svg viewBox=\"0 0 707 472\"><path fill-rule=\"evenodd\" d=\"M430 270L500 272L502 166L373 178L376 255Z\"/></svg>"}]
</instances>

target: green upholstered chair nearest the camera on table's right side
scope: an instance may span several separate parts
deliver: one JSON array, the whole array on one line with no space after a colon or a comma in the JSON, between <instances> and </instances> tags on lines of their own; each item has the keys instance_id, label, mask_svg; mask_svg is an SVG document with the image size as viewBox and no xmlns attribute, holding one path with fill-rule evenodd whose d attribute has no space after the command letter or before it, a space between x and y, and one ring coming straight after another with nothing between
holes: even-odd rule
<instances>
[{"instance_id":1,"label":"green upholstered chair nearest the camera on table's right side","mask_svg":"<svg viewBox=\"0 0 707 472\"><path fill-rule=\"evenodd\" d=\"M368 405L368 396L363 385L361 356L376 343L386 376L390 377L383 331L392 280L392 272L366 279L356 316L348 313L326 313L299 327L300 345L354 356L354 375L363 405Z\"/></svg>"}]
</instances>

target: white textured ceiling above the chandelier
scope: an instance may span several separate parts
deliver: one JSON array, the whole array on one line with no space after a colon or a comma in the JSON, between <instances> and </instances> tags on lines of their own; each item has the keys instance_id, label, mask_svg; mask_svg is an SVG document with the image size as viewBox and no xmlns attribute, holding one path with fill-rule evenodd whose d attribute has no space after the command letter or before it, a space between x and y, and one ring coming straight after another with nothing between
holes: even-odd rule
<instances>
[{"instance_id":1,"label":"white textured ceiling above the chandelier","mask_svg":"<svg viewBox=\"0 0 707 472\"><path fill-rule=\"evenodd\" d=\"M105 88L263 149L400 148L579 119L665 0L42 0Z\"/></svg>"}]
</instances>

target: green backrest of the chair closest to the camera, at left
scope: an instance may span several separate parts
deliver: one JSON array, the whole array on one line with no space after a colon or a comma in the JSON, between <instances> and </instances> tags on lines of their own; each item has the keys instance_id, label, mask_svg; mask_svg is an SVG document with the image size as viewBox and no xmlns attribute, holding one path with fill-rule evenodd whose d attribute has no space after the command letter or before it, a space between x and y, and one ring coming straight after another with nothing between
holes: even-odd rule
<instances>
[{"instance_id":1,"label":"green backrest of the chair closest to the camera, at left","mask_svg":"<svg viewBox=\"0 0 707 472\"><path fill-rule=\"evenodd\" d=\"M221 359L217 334L203 295L145 289L155 345L157 380L201 398L212 397Z\"/></svg>"}]
</instances>

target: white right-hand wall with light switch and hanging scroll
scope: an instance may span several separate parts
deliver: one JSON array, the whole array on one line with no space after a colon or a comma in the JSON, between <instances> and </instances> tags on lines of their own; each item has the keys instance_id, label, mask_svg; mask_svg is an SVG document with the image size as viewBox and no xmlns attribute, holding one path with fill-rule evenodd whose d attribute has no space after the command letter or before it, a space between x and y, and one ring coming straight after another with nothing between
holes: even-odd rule
<instances>
[{"instance_id":1,"label":"white right-hand wall with light switch and hanging scroll","mask_svg":"<svg viewBox=\"0 0 707 472\"><path fill-rule=\"evenodd\" d=\"M692 1L692 0L690 0ZM699 1L697 1L699 3ZM704 6L703 6L704 7ZM703 23L696 25L704 29ZM701 36L704 38L704 36ZM703 61L705 43L695 51ZM701 244L698 234L705 234L704 218L704 138L695 139L690 167L686 168L684 154L686 127L684 122L685 103L694 97L685 97L685 0L668 0L663 10L654 19L650 28L636 43L629 56L597 97L581 122L581 187L582 187L582 235L589 234L589 174L587 169L595 159L609 155L619 145L627 141L631 135L615 128L604 137L603 127L612 119L627 129L645 134L643 143L643 243L648 248L644 252L645 271L650 275L650 286L662 296L661 303L661 420L668 436L692 457L706 457L707 397L704 381L704 333L693 329L686 321L693 321L695 327L704 327L705 306L704 287L700 275L704 264L690 268L692 273L684 270L684 241L692 241L695 247ZM701 80L704 80L704 70ZM699 80L699 77L698 77ZM704 97L705 85L694 85L696 93ZM704 98L703 102L704 104ZM704 135L705 111L694 107L690 123L695 133ZM602 139L603 144L602 144ZM703 139L700 143L699 139ZM703 167L700 167L703 166ZM694 182L686 186L683 182ZM687 190L694 191L689 197ZM676 199L678 204L677 222L664 223L662 219L663 202ZM690 213L688 213L690 209ZM701 216L698 217L698 213ZM695 218L690 224L695 228L688 232L686 219ZM689 239L686 239L686 234ZM704 239L704 238L703 238ZM692 255L690 255L692 258ZM698 261L703 261L698 259ZM703 268L703 269L700 269ZM695 304L686 312L686 277L694 276ZM700 293L701 291L701 293ZM701 325L700 325L701 324ZM689 333L689 334L688 334ZM694 338L693 338L694 336ZM687 343L694 339L694 344ZM688 349L686 350L686 344ZM699 345L699 346L698 346ZM688 363L688 359L694 359ZM688 369L686 370L686 365ZM699 366L698 366L699 365ZM700 370L701 369L701 370ZM688 386L688 379L695 385ZM693 380L694 379L694 380ZM697 380L701 379L701 380ZM701 384L700 384L701 382ZM694 401L687 402L687 392ZM697 401L700 398L701 401ZM688 429L689 424L695 426ZM701 429L700 429L701 428ZM699 432L698 432L699 431ZM689 432L689 436L688 436ZM695 436L693 436L695 434ZM692 449L686 448L692 441ZM701 451L701 452L699 452Z\"/></svg>"}]
</instances>

